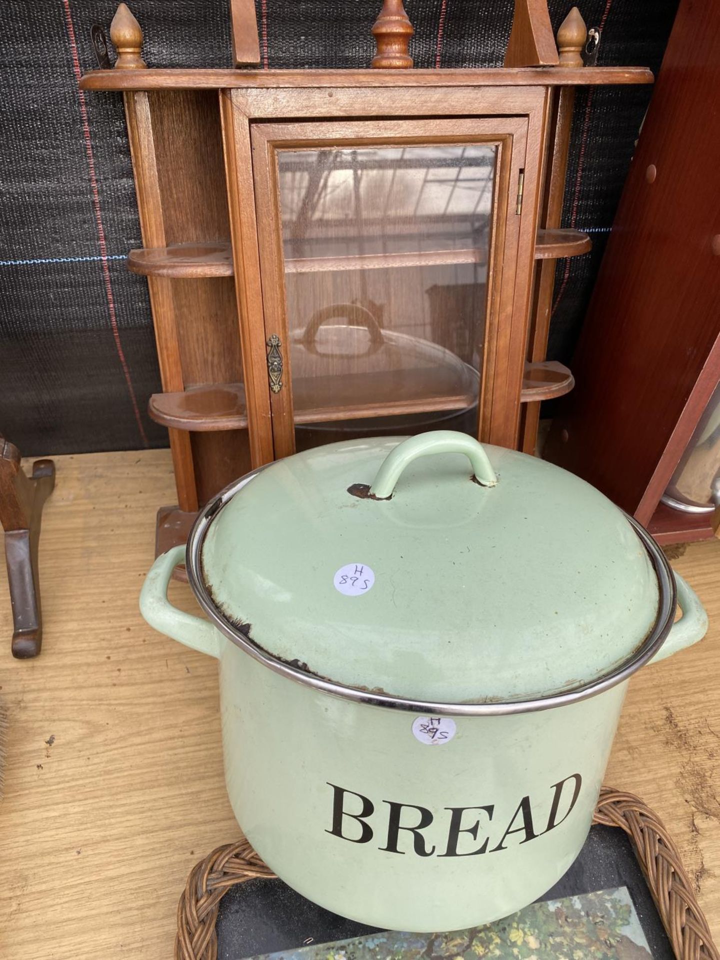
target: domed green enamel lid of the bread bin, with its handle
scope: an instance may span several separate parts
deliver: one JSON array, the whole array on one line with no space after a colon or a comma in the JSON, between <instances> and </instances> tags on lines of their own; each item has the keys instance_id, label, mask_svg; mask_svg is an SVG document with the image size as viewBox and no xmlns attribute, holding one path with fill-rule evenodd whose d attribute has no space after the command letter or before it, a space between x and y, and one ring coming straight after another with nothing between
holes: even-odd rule
<instances>
[{"instance_id":1,"label":"domed green enamel lid of the bread bin, with its handle","mask_svg":"<svg viewBox=\"0 0 720 960\"><path fill-rule=\"evenodd\" d=\"M209 505L198 549L191 582L230 632L310 676L412 700L582 688L659 615L648 549L607 497L452 431L277 461Z\"/></svg>"}]
</instances>

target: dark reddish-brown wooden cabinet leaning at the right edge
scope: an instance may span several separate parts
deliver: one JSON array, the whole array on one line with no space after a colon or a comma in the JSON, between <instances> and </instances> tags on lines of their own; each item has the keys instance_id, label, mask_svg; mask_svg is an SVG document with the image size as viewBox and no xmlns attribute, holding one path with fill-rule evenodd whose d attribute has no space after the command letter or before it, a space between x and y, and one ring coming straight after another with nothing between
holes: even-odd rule
<instances>
[{"instance_id":1,"label":"dark reddish-brown wooden cabinet leaning at the right edge","mask_svg":"<svg viewBox=\"0 0 720 960\"><path fill-rule=\"evenodd\" d=\"M660 497L720 380L719 86L720 5L683 0L546 446L662 542L712 535Z\"/></svg>"}]
</instances>

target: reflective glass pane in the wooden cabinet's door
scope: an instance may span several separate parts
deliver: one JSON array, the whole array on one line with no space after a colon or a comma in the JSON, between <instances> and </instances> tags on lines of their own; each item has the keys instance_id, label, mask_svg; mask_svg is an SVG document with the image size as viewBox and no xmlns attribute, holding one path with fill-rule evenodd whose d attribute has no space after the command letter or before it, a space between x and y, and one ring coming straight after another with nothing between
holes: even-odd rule
<instances>
[{"instance_id":1,"label":"reflective glass pane in the wooden cabinet's door","mask_svg":"<svg viewBox=\"0 0 720 960\"><path fill-rule=\"evenodd\" d=\"M299 449L477 431L493 144L280 150Z\"/></svg>"}]
</instances>

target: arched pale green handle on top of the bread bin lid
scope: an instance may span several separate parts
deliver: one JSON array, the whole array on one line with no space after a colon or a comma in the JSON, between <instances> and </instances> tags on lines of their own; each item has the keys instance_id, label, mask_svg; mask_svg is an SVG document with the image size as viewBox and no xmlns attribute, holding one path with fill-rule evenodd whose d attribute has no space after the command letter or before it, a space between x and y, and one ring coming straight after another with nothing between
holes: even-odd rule
<instances>
[{"instance_id":1,"label":"arched pale green handle on top of the bread bin lid","mask_svg":"<svg viewBox=\"0 0 720 960\"><path fill-rule=\"evenodd\" d=\"M456 430L433 430L397 444L377 471L370 489L371 496L376 500L389 500L395 491L400 473L418 457L430 453L464 453L479 484L483 487L494 487L497 483L488 454L474 437Z\"/></svg>"}]
</instances>

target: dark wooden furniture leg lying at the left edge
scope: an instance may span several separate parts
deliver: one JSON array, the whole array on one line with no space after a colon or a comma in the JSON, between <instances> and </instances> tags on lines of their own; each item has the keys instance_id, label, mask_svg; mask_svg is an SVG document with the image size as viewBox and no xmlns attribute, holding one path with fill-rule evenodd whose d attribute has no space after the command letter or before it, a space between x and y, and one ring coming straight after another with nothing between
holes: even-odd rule
<instances>
[{"instance_id":1,"label":"dark wooden furniture leg lying at the left edge","mask_svg":"<svg viewBox=\"0 0 720 960\"><path fill-rule=\"evenodd\" d=\"M54 487L52 460L36 460L28 477L17 447L0 437L0 523L12 603L12 656L19 659L36 657L42 645L37 545L42 508Z\"/></svg>"}]
</instances>

